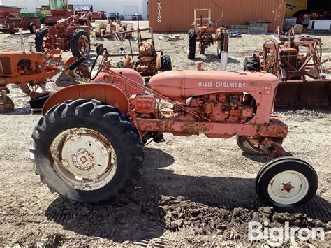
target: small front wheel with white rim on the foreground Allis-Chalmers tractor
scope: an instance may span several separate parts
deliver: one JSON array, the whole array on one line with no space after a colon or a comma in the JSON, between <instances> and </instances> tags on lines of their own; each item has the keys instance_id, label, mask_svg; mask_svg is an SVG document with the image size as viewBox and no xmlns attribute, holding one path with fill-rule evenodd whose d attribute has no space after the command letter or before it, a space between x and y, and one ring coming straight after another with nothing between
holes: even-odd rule
<instances>
[{"instance_id":1,"label":"small front wheel with white rim on the foreground Allis-Chalmers tractor","mask_svg":"<svg viewBox=\"0 0 331 248\"><path fill-rule=\"evenodd\" d=\"M290 156L273 159L256 177L256 193L276 207L307 203L316 194L318 179L314 168Z\"/></svg>"}]
</instances>

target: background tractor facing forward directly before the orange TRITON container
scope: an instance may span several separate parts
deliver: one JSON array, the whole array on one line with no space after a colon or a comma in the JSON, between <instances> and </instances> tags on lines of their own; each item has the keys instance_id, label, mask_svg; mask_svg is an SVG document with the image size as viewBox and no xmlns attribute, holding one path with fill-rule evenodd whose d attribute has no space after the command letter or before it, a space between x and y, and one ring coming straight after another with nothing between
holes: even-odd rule
<instances>
[{"instance_id":1,"label":"background tractor facing forward directly before the orange TRITON container","mask_svg":"<svg viewBox=\"0 0 331 248\"><path fill-rule=\"evenodd\" d=\"M223 11L223 10L222 10ZM208 13L208 17L203 17L203 13ZM198 13L201 13L198 16ZM223 15L221 16L221 18ZM219 20L221 20L219 18ZM200 24L198 23L200 20ZM219 22L219 21L218 21ZM196 57L196 43L199 43L200 54L205 54L205 50L212 44L217 43L217 55L221 59L221 52L228 52L228 31L224 27L217 27L217 23L212 21L211 9L194 10L194 29L189 30L189 49L187 57Z\"/></svg>"}]
</instances>

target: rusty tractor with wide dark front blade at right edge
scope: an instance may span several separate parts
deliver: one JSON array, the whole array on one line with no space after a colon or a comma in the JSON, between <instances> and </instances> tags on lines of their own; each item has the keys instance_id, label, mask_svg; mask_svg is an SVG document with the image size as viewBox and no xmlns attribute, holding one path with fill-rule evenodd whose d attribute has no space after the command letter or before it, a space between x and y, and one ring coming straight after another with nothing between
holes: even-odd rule
<instances>
[{"instance_id":1,"label":"rusty tractor with wide dark front blade at right edge","mask_svg":"<svg viewBox=\"0 0 331 248\"><path fill-rule=\"evenodd\" d=\"M293 31L263 44L263 50L244 60L244 71L266 71L279 78L275 108L330 108L331 80L323 73L321 39ZM309 79L309 80L308 80Z\"/></svg>"}]
</instances>

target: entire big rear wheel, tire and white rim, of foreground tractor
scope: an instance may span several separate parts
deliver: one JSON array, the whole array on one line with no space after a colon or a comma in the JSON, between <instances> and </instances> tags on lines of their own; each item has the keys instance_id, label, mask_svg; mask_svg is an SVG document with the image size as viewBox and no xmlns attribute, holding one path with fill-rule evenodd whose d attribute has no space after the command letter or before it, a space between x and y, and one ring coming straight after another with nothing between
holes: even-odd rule
<instances>
[{"instance_id":1,"label":"entire big rear wheel, tire and white rim, of foreground tractor","mask_svg":"<svg viewBox=\"0 0 331 248\"><path fill-rule=\"evenodd\" d=\"M83 203L116 196L138 175L138 131L117 108L79 99L52 108L31 145L36 174L51 191Z\"/></svg>"}]
</instances>

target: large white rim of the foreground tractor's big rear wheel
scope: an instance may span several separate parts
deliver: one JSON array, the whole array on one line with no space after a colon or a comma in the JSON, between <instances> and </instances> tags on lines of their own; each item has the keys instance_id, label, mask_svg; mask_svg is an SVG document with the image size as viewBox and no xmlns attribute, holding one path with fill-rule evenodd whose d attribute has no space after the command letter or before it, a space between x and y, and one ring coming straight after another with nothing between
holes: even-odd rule
<instances>
[{"instance_id":1,"label":"large white rim of the foreground tractor's big rear wheel","mask_svg":"<svg viewBox=\"0 0 331 248\"><path fill-rule=\"evenodd\" d=\"M63 131L54 138L50 156L61 180L84 191L104 187L117 170L115 149L105 136L92 129Z\"/></svg>"}]
</instances>

